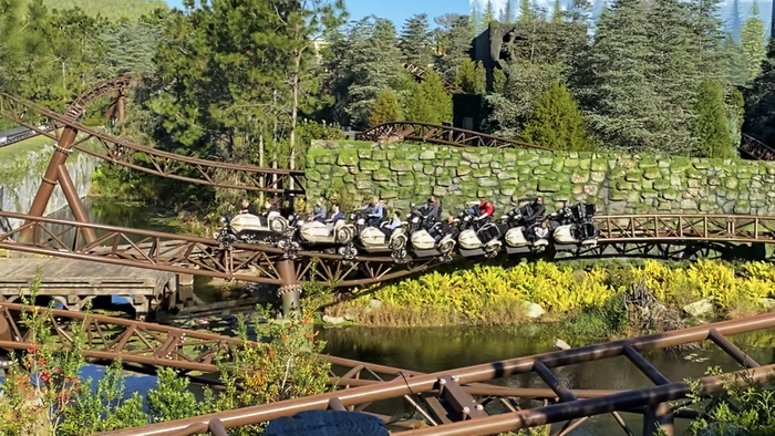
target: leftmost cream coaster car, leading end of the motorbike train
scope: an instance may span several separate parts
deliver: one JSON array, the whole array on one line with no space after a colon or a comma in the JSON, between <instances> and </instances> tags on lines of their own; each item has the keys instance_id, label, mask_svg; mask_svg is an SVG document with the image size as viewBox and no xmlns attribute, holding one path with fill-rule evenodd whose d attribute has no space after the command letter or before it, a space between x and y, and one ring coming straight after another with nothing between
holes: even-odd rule
<instances>
[{"instance_id":1,"label":"leftmost cream coaster car, leading end of the motorbike train","mask_svg":"<svg viewBox=\"0 0 775 436\"><path fill-rule=\"evenodd\" d=\"M220 217L224 225L214 237L221 243L276 243L290 228L289 222L277 211L266 217L252 214L225 214Z\"/></svg>"}]
</instances>

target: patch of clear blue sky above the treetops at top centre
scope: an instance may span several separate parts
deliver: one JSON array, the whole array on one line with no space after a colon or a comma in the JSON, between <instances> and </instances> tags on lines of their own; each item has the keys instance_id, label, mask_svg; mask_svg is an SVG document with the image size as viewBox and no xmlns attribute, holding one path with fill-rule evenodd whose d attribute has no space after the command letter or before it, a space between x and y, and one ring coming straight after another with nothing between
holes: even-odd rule
<instances>
[{"instance_id":1,"label":"patch of clear blue sky above the treetops at top centre","mask_svg":"<svg viewBox=\"0 0 775 436\"><path fill-rule=\"evenodd\" d=\"M403 22L415 13L427 13L430 21L433 17L444 13L468 13L469 0L344 0L350 18L359 20L374 14L392 20L399 29ZM173 8L182 8L182 0L167 0Z\"/></svg>"}]
</instances>

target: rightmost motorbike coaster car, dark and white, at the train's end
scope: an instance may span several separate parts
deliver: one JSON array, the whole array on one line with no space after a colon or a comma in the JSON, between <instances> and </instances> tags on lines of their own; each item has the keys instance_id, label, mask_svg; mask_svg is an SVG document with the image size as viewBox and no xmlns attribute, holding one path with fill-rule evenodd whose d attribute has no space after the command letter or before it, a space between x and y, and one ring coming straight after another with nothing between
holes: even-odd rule
<instances>
[{"instance_id":1,"label":"rightmost motorbike coaster car, dark and white, at the train's end","mask_svg":"<svg viewBox=\"0 0 775 436\"><path fill-rule=\"evenodd\" d=\"M551 214L549 219L557 224L552 226L555 249L561 251L597 246L598 228L592 221L596 212L595 205L580 201L576 206L564 207Z\"/></svg>"}]
</instances>

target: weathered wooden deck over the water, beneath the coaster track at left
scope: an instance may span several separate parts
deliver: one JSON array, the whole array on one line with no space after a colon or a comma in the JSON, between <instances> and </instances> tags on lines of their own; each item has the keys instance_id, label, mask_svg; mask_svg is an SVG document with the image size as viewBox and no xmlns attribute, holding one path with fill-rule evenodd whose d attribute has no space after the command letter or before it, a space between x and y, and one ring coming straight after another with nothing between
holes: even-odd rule
<instances>
[{"instance_id":1,"label":"weathered wooden deck over the water, beneath the coaster track at left","mask_svg":"<svg viewBox=\"0 0 775 436\"><path fill-rule=\"evenodd\" d=\"M178 280L173 272L56 258L0 258L0 301L13 302L27 293L41 269L39 295L49 295L68 310L81 310L100 295L124 297L144 318L174 298Z\"/></svg>"}]
</instances>

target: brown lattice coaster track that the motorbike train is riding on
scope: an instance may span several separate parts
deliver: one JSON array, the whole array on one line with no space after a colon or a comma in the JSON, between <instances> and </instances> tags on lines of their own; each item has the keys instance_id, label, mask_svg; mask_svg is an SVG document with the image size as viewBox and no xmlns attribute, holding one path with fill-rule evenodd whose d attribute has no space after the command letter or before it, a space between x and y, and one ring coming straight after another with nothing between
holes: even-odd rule
<instances>
[{"instance_id":1,"label":"brown lattice coaster track that the motorbike train is riding on","mask_svg":"<svg viewBox=\"0 0 775 436\"><path fill-rule=\"evenodd\" d=\"M24 221L18 229L0 235L0 248L8 250L280 287L312 281L335 288L361 287L444 264L437 257L396 262L390 256L347 259L267 245L223 246L215 239L6 211L0 211L1 218ZM693 243L775 243L775 217L631 215L596 217L595 222L599 228L598 245L575 248L569 251L571 256L648 257L658 249L661 256L689 258L686 246ZM89 241L87 230L96 239ZM34 236L31 241L19 241L24 231ZM453 261L463 259L466 258L456 255Z\"/></svg>"}]
</instances>

